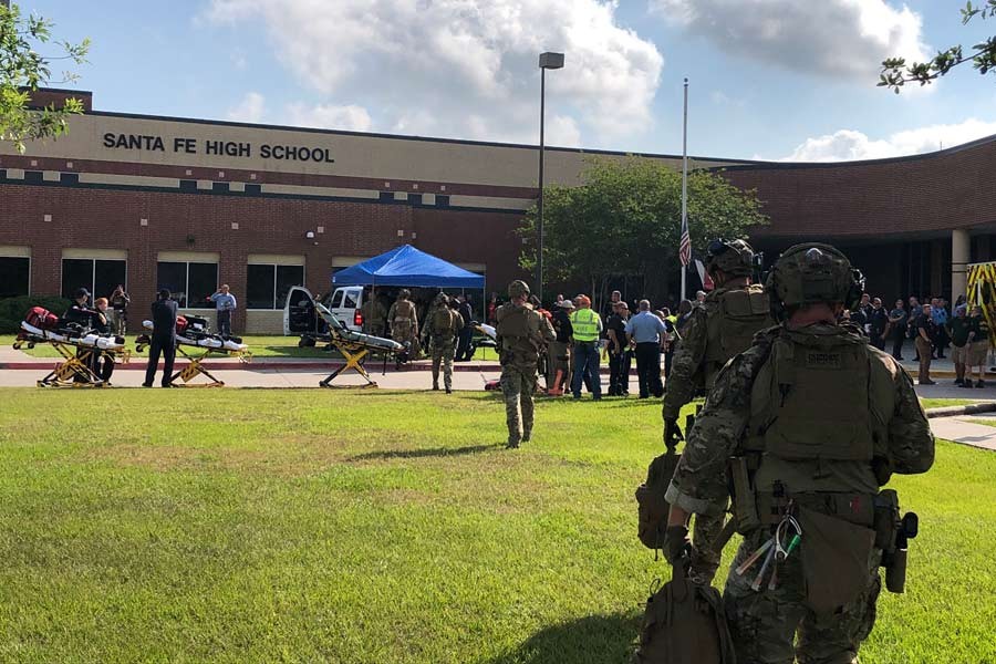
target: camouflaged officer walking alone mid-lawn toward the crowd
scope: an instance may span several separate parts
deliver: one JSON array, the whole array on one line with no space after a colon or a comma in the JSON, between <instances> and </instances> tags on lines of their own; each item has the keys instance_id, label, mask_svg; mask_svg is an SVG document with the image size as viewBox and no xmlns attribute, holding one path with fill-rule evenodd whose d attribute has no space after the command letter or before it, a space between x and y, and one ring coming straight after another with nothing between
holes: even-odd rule
<instances>
[{"instance_id":1,"label":"camouflaged officer walking alone mid-lawn toward the crowd","mask_svg":"<svg viewBox=\"0 0 996 664\"><path fill-rule=\"evenodd\" d=\"M501 393L508 424L507 448L532 437L532 393L536 391L536 369L543 346L554 339L553 328L546 317L529 303L529 287L525 281L508 284L511 300L495 312L498 352L501 360Z\"/></svg>"}]
</instances>

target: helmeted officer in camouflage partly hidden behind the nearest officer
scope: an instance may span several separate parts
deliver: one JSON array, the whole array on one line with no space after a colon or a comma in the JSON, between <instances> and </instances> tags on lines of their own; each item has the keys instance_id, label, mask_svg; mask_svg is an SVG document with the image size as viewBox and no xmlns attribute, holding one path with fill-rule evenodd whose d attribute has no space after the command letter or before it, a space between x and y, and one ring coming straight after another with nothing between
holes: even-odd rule
<instances>
[{"instance_id":1,"label":"helmeted officer in camouflage partly hidden behind the nearest officer","mask_svg":"<svg viewBox=\"0 0 996 664\"><path fill-rule=\"evenodd\" d=\"M708 247L706 270L716 288L692 310L682 330L682 341L671 363L664 394L664 443L677 445L681 430L677 417L697 390L708 390L726 362L750 347L754 335L774 324L768 298L760 284L751 284L754 249L744 240L714 240ZM710 580L719 567L719 552L713 542L722 519L708 515L695 517L693 573Z\"/></svg>"}]
</instances>

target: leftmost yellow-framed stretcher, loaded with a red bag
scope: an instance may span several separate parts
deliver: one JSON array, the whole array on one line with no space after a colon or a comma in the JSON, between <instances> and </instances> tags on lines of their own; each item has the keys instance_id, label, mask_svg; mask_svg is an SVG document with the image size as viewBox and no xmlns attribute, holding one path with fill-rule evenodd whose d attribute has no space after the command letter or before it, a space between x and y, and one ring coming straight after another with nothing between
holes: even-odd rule
<instances>
[{"instance_id":1,"label":"leftmost yellow-framed stretcher, loaded with a red bag","mask_svg":"<svg viewBox=\"0 0 996 664\"><path fill-rule=\"evenodd\" d=\"M39 343L54 347L65 361L38 381L39 387L105 387L110 382L94 371L101 356L125 364L131 353L123 336L100 334L76 322L66 322L41 307L34 307L21 321L13 347L33 349Z\"/></svg>"}]
</instances>

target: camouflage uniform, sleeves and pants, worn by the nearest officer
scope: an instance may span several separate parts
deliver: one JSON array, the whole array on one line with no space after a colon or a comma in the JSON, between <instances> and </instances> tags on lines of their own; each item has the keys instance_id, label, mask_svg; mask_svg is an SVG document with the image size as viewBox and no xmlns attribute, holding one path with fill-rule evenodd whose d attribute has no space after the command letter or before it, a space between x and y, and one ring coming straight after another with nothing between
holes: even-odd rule
<instances>
[{"instance_id":1,"label":"camouflage uniform, sleeves and pants, worn by the nearest officer","mask_svg":"<svg viewBox=\"0 0 996 664\"><path fill-rule=\"evenodd\" d=\"M934 459L933 435L913 391L912 381L891 356L868 346L861 332L851 325L815 323L799 329L779 326L758 335L755 345L735 357L717 376L706 405L688 434L684 454L666 494L668 501L677 508L687 512L722 515L728 498L726 467L729 457L744 454L745 449L756 445L751 440L767 440L765 436L768 428L757 426L759 404L767 404L767 408L779 413L779 404L784 404L788 395L789 404L780 413L787 419L793 416L791 411L799 407L800 400L806 398L801 394L806 391L800 388L798 394L793 393L791 382L781 382L782 374L778 372L784 370L782 359L791 355L775 353L772 350L791 344L796 349L797 360L805 363L813 357L816 362L820 357L832 355L820 352L827 347L838 351L843 349L842 354L851 353L848 356L867 357L867 364L862 364L862 371L867 375L859 378L837 367L836 375L827 378L850 381L854 383L854 392L864 390L861 398L867 400L867 411L854 412L853 418L867 424L868 428L861 432L858 428L844 430L858 432L854 435L859 438L864 436L869 440L873 439L875 455L886 458L892 471L916 474L931 467ZM807 349L815 350L810 352ZM798 356L799 350L802 351L802 357ZM868 387L858 385L858 382L867 382ZM841 394L837 401L849 403L849 398L853 397ZM822 398L820 403L829 406L830 419L837 421L839 416L833 411L839 409L839 404L833 404L833 401L832 397ZM816 413L819 411L819 406L811 409ZM819 415L813 416L813 421L817 419ZM810 505L811 509L831 515L833 518L830 520L833 522L848 520L849 515L844 511L829 508L831 496L875 495L880 479L873 470L873 461L847 459L845 455L840 457L841 460L812 458L806 454L793 459L787 458L791 455L776 453L777 445L818 444L816 442L821 438L820 434L796 424L780 424L781 443L772 444L775 447L759 456L760 465L754 475L759 515L764 517L765 513L759 497L777 495L776 487L785 480L787 496L795 497L800 505L806 505L807 499L817 498L819 505ZM840 427L847 427L851 423L839 424ZM775 422L769 426L775 428ZM869 429L874 433L869 435ZM793 436L796 432L798 436ZM853 499L851 505L857 512ZM762 521L766 525L770 522ZM749 583L758 573L755 571L758 567L751 568L743 577L736 574L735 569L769 537L770 529L767 527L747 532L727 579L724 600L737 649L737 661L746 664L791 664L796 657L800 663L810 664L857 661L858 649L871 632L875 619L875 600L880 590L878 564L882 551L869 546L867 580L862 587L860 582L864 571L859 571L858 592L850 595L850 600L833 612L818 612L811 608L811 603L807 603L807 582L800 562L807 553L807 541L810 542L809 551L821 550L812 543L813 536L807 539L807 533L803 532L799 549L801 553L789 556L778 564L778 579L774 590L767 589L767 579L760 591L751 590ZM857 564L860 570L860 562ZM793 647L797 633L798 641Z\"/></svg>"}]
</instances>

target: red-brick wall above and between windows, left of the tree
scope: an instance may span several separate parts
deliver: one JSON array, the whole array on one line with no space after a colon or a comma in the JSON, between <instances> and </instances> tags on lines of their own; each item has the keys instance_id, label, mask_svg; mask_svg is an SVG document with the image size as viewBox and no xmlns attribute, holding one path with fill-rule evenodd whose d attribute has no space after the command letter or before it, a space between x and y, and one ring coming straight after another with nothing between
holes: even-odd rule
<instances>
[{"instance_id":1,"label":"red-brick wall above and between windows, left of the tree","mask_svg":"<svg viewBox=\"0 0 996 664\"><path fill-rule=\"evenodd\" d=\"M0 245L31 247L33 292L60 292L63 249L124 249L136 312L155 298L159 251L220 253L218 278L243 302L249 253L304 256L307 286L319 292L329 288L332 257L375 256L405 242L446 260L485 263L489 284L504 284L519 276L521 245L512 237L519 218L376 201L0 185ZM305 238L308 231L315 237ZM245 330L245 310L234 328Z\"/></svg>"}]
</instances>

